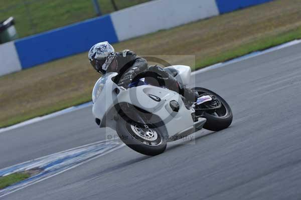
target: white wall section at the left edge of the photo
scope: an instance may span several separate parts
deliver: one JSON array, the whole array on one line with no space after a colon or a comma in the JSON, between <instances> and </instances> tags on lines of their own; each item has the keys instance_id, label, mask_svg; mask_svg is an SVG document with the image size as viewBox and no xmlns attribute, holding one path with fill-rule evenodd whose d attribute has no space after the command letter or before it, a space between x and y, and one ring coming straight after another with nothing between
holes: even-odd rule
<instances>
[{"instance_id":1,"label":"white wall section at the left edge of the photo","mask_svg":"<svg viewBox=\"0 0 301 200\"><path fill-rule=\"evenodd\" d=\"M14 42L0 45L0 76L22 70Z\"/></svg>"}]
</instances>

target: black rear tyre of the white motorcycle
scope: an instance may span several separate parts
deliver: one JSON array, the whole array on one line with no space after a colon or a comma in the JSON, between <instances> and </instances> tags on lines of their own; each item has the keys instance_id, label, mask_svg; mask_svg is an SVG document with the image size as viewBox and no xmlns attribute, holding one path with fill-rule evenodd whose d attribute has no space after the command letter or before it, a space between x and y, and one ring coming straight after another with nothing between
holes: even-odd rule
<instances>
[{"instance_id":1,"label":"black rear tyre of the white motorcycle","mask_svg":"<svg viewBox=\"0 0 301 200\"><path fill-rule=\"evenodd\" d=\"M225 112L224 115L220 114L218 116L212 115L210 113L205 113L204 117L207 119L207 121L204 124L204 128L212 131L219 131L228 128L232 123L232 119L233 119L233 114L229 104L221 96L219 96L218 94L216 94L211 90L208 90L206 88L200 88L200 87L196 87L195 90L199 94L207 93L216 96L216 98L222 103L222 107L220 108L221 110L220 111L217 110L217 112L220 113Z\"/></svg>"}]
</instances>

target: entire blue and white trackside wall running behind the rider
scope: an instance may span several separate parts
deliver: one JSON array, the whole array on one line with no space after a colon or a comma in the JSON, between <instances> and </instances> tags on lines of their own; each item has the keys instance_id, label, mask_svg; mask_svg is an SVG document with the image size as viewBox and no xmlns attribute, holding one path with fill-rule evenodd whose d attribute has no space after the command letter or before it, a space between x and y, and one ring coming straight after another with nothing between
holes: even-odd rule
<instances>
[{"instance_id":1,"label":"entire blue and white trackside wall running behind the rider","mask_svg":"<svg viewBox=\"0 0 301 200\"><path fill-rule=\"evenodd\" d=\"M101 41L116 43L270 1L153 0L0 45L0 76L88 51Z\"/></svg>"}]
</instances>

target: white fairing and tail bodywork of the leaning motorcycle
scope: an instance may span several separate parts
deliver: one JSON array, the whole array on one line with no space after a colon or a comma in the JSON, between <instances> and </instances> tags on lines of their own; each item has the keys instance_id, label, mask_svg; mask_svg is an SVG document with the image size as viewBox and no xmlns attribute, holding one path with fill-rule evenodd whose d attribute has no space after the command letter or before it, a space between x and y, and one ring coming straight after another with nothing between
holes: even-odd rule
<instances>
[{"instance_id":1,"label":"white fairing and tail bodywork of the leaning motorcycle","mask_svg":"<svg viewBox=\"0 0 301 200\"><path fill-rule=\"evenodd\" d=\"M189 81L190 70L186 66L183 69L180 69L180 66L173 67L179 69L178 76L181 77L184 83L187 83ZM141 85L125 90L112 81L112 78L116 75L117 73L104 75L96 82L93 89L93 115L95 118L100 119L101 127L115 129L116 122L114 116L118 115L115 105L119 103L128 103L149 113L153 113L154 116L159 116L159 120L165 124L168 136L177 135L181 131L195 125L192 118L194 109L187 109L178 93L152 85ZM156 96L159 100L157 99L156 101L150 96ZM173 100L177 101L180 105L178 112L173 111L171 108L170 102Z\"/></svg>"}]
</instances>

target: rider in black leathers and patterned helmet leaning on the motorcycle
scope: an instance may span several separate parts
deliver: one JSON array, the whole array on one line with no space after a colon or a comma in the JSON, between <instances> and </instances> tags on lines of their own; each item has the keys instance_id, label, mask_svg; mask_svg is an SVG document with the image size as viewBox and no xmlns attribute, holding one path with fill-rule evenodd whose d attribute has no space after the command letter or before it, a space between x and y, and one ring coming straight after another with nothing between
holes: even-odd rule
<instances>
[{"instance_id":1,"label":"rider in black leathers and patterned helmet leaning on the motorcycle","mask_svg":"<svg viewBox=\"0 0 301 200\"><path fill-rule=\"evenodd\" d=\"M164 68L158 65L147 67L147 61L130 50L117 53L108 42L101 42L91 47L88 57L97 72L117 72L116 83L119 86L127 87L134 79L145 77L148 83L164 85L183 95L188 101L195 102L198 98L197 92L183 86Z\"/></svg>"}]
</instances>

